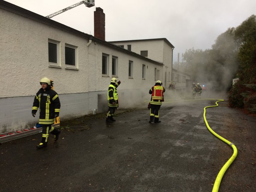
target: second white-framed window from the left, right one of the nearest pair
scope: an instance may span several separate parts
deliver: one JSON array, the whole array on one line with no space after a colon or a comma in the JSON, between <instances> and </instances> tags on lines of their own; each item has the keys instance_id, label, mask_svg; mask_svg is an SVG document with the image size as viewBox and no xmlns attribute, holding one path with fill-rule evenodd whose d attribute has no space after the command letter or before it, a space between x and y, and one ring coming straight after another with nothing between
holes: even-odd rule
<instances>
[{"instance_id":1,"label":"second white-framed window from the left, right one of the nearest pair","mask_svg":"<svg viewBox=\"0 0 256 192\"><path fill-rule=\"evenodd\" d=\"M65 68L78 69L77 47L65 44Z\"/></svg>"}]
</instances>

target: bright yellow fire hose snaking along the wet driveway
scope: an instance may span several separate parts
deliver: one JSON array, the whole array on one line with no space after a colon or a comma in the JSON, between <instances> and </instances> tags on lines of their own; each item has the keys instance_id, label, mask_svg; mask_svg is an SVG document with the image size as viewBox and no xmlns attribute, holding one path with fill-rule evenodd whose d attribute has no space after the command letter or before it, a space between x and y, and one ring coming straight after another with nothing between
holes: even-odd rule
<instances>
[{"instance_id":1,"label":"bright yellow fire hose snaking along the wet driveway","mask_svg":"<svg viewBox=\"0 0 256 192\"><path fill-rule=\"evenodd\" d=\"M228 144L230 147L233 148L234 150L234 153L233 155L231 156L231 158L225 163L225 165L222 167L222 169L219 171L219 174L217 175L216 177L216 180L214 182L214 186L213 186L213 192L218 192L219 191L219 186L220 186L220 182L222 180L222 177L223 175L225 174L226 170L228 169L228 167L231 165L231 163L235 160L237 154L238 154L238 151L236 149L236 146L234 145L234 143L231 143L229 142L228 140L224 139L223 137L221 137L220 135L218 135L217 133L215 133L209 126L208 122L206 121L206 108L209 108L209 107L218 107L218 102L221 102L221 101L224 101L222 99L197 99L197 100L218 100L216 101L216 105L214 106L207 106L207 107L204 107L204 114L203 114L203 117L204 117L204 122L206 124L206 127L209 129L209 131L215 135L216 137L218 137L220 140L224 141L226 144ZM166 100L167 102L165 103L172 103L172 102L177 102L177 101L197 101L197 100ZM168 102L169 101L169 102ZM148 101L145 101L145 102L148 102Z\"/></svg>"}]
</instances>

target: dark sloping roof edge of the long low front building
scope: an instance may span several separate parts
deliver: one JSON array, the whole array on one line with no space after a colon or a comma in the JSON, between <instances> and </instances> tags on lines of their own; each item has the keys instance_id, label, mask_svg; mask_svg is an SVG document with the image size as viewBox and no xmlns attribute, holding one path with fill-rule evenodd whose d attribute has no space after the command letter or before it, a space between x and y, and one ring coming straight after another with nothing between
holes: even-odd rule
<instances>
[{"instance_id":1,"label":"dark sloping roof edge of the long low front building","mask_svg":"<svg viewBox=\"0 0 256 192\"><path fill-rule=\"evenodd\" d=\"M54 21L54 20L51 20L47 17L44 17L42 15L39 15L39 14L36 14L32 11L29 11L27 9L24 9L22 7L19 7L17 5L14 5L14 4L11 4L7 1L4 1L4 0L0 0L0 8L1 9L4 9L4 10L7 10L7 11L10 11L10 12L13 12L15 14L18 14L18 15L21 15L23 17L27 17L27 18L30 18L34 21L37 21L37 22L41 22L41 23L44 23L45 25L48 25L48 26L52 26L54 28L58 28L60 30L63 30L63 31L67 31L67 32L70 32L70 33L73 33L77 36L80 36L82 38L87 38L87 39L91 39L91 40L94 40L98 43L102 43L108 47L112 47L114 49L118 49L118 50L121 50L122 52L125 52L127 54L131 54L135 57L138 57L140 59L144 59L144 60L147 60L148 62L151 62L151 63L154 63L154 64L157 64L157 65L160 65L160 66L163 66L164 64L161 63L161 62L157 62L157 61L154 61L154 60L151 60L149 58L146 58L146 57L143 57L137 53L134 53L134 52L131 52L129 50L126 50L126 49L123 49L121 47L118 47L112 43L109 43L107 41L103 41L102 39L98 39L90 34L87 34L87 33L84 33L84 32L81 32L81 31L78 31L78 30L75 30L74 28L71 28L71 27L68 27L62 23L59 23L57 21ZM167 40L167 39L166 39Z\"/></svg>"}]
</instances>

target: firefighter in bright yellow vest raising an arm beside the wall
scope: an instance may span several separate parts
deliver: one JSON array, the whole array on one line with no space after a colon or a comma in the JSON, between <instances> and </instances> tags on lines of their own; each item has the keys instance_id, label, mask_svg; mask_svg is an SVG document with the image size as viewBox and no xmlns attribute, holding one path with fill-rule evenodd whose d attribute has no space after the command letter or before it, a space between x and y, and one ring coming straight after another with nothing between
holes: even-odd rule
<instances>
[{"instance_id":1,"label":"firefighter in bright yellow vest raising an arm beside the wall","mask_svg":"<svg viewBox=\"0 0 256 192\"><path fill-rule=\"evenodd\" d=\"M116 108L118 107L118 95L117 95L117 87L121 84L121 81L117 82L116 78L112 78L110 81L110 85L108 87L108 113L106 122L112 122L116 121L113 118L114 112L116 111Z\"/></svg>"}]
</instances>

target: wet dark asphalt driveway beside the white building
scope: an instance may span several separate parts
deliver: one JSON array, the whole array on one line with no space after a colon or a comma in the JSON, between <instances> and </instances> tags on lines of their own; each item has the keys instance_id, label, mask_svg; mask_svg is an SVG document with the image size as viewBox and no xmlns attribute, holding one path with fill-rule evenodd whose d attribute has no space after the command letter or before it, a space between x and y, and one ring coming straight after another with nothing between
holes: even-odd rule
<instances>
[{"instance_id":1,"label":"wet dark asphalt driveway beside the white building","mask_svg":"<svg viewBox=\"0 0 256 192\"><path fill-rule=\"evenodd\" d=\"M219 191L256 191L256 118L229 108L225 94L218 98L225 101L207 109L207 121L238 149ZM147 104L117 110L113 123L105 114L61 122L60 139L50 135L44 149L36 149L41 134L2 143L0 191L212 191L233 154L204 123L203 108L215 102L166 100L156 124Z\"/></svg>"}]
</instances>

